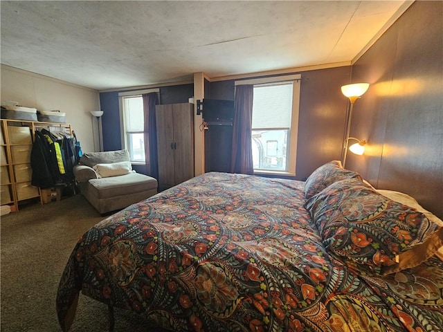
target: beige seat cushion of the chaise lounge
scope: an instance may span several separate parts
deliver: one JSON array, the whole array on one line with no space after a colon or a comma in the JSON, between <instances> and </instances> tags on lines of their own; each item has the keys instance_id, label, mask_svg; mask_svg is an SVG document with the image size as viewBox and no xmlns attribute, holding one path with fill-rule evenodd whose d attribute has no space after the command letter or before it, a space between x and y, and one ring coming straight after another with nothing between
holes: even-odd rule
<instances>
[{"instance_id":1,"label":"beige seat cushion of the chaise lounge","mask_svg":"<svg viewBox=\"0 0 443 332\"><path fill-rule=\"evenodd\" d=\"M144 174L129 173L109 178L94 178L89 180L91 191L98 199L134 194L150 189L156 189L155 178Z\"/></svg>"}]
</instances>

